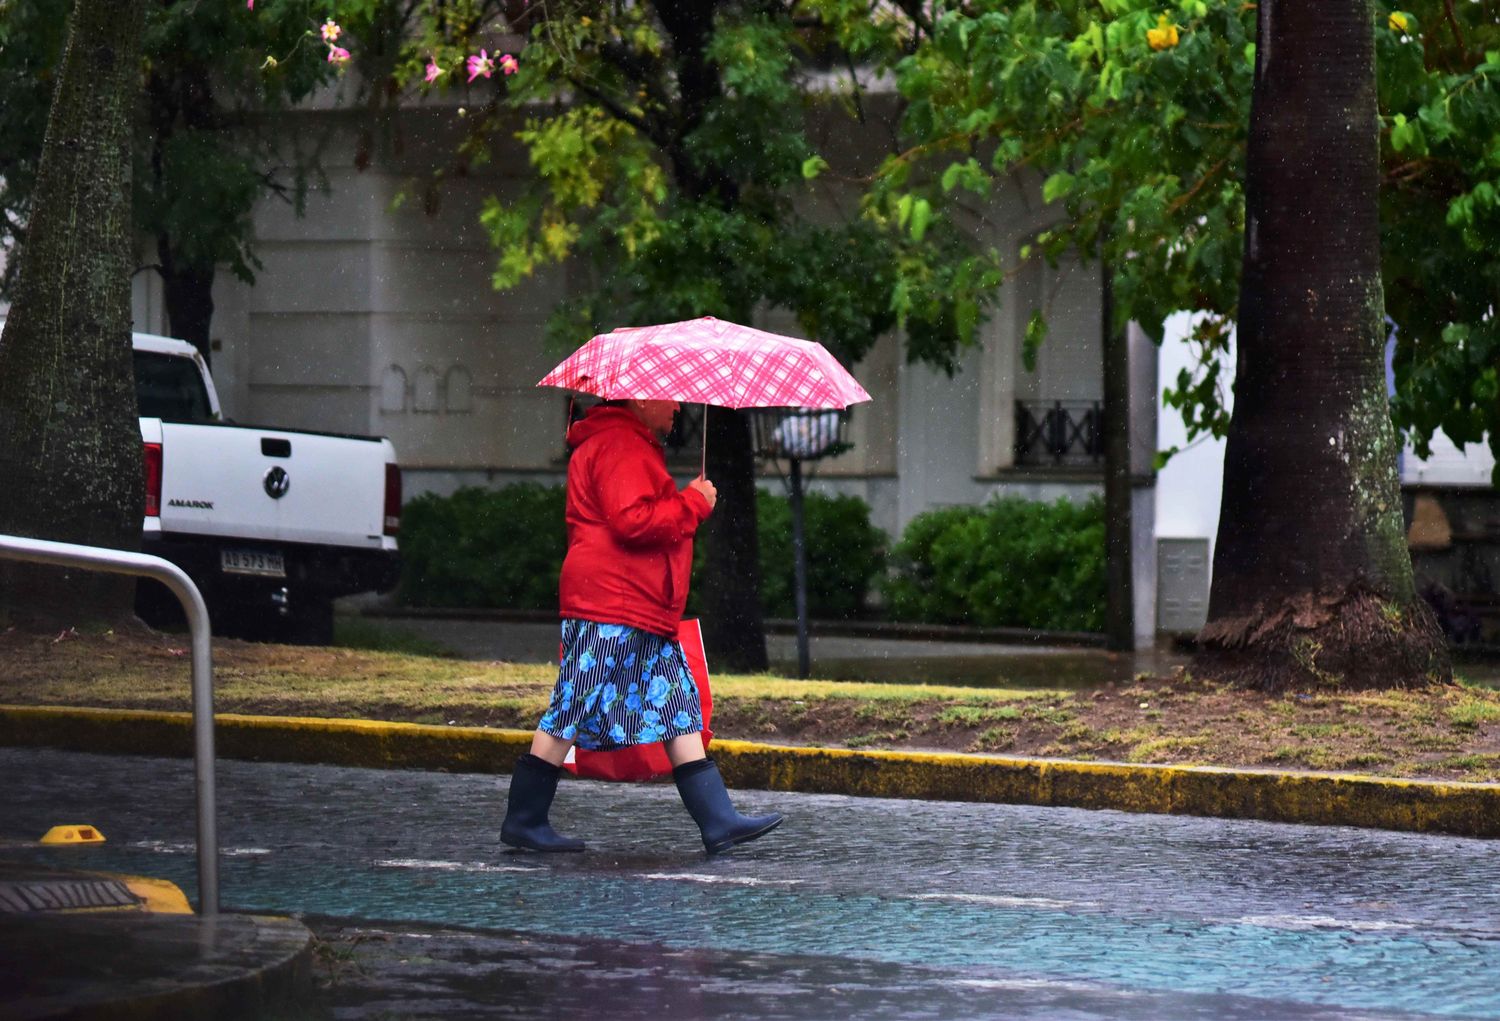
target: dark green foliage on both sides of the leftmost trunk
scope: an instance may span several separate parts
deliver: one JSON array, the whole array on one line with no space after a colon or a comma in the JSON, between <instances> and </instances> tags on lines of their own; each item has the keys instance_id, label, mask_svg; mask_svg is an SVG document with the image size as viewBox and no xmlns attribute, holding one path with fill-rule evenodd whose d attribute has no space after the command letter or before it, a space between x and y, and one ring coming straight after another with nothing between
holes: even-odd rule
<instances>
[{"instance_id":1,"label":"dark green foliage on both sides of the leftmost trunk","mask_svg":"<svg viewBox=\"0 0 1500 1021\"><path fill-rule=\"evenodd\" d=\"M26 237L69 7L70 0L0 6L0 244ZM364 31L380 9L368 0L328 4ZM147 265L162 279L172 336L206 357L214 274L226 268L254 283L260 268L255 204L276 195L300 208L318 172L318 139L274 121L339 70L315 30L302 3L262 0L250 10L147 0L141 102L129 109L132 216L150 241ZM14 270L9 276L0 280L6 292Z\"/></svg>"}]
</instances>

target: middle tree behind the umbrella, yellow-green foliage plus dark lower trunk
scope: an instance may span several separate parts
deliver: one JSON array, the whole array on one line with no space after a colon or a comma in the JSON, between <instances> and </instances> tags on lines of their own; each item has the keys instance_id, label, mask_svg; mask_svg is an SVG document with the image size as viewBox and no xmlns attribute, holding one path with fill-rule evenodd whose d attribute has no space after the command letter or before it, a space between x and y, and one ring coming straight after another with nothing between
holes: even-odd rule
<instances>
[{"instance_id":1,"label":"middle tree behind the umbrella, yellow-green foliage plus dark lower trunk","mask_svg":"<svg viewBox=\"0 0 1500 1021\"><path fill-rule=\"evenodd\" d=\"M810 126L860 111L850 87L828 87L819 66L838 66L837 34L804 13L741 0L552 0L476 4L464 19L444 10L429 21L411 75L428 54L460 73L464 54L478 49L476 30L496 18L528 33L519 70L496 73L488 105L470 111L460 159L484 159L496 135L514 133L534 171L522 198L495 198L483 214L498 286L586 261L590 286L550 319L558 348L618 325L700 315L752 322L766 309L794 313L846 363L898 321L910 352L940 364L972 337L976 309L958 316L942 297L946 264L934 264L933 286L903 298L900 246L858 213L856 193L808 214L807 178L848 162L837 141L820 151ZM716 658L764 669L754 460L741 415L711 411L708 475L720 502L698 580L704 625Z\"/></svg>"}]
</instances>

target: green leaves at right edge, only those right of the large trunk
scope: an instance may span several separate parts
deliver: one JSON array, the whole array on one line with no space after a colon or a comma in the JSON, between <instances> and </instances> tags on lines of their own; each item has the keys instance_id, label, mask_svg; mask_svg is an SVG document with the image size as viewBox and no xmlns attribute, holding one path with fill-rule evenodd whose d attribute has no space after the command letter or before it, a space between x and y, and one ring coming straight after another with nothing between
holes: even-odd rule
<instances>
[{"instance_id":1,"label":"green leaves at right edge, only those right of the large trunk","mask_svg":"<svg viewBox=\"0 0 1500 1021\"><path fill-rule=\"evenodd\" d=\"M1384 10L1376 27L1394 414L1419 453L1437 429L1454 442L1500 438L1490 391L1500 364L1500 24L1484 7L1432 0Z\"/></svg>"}]
</instances>

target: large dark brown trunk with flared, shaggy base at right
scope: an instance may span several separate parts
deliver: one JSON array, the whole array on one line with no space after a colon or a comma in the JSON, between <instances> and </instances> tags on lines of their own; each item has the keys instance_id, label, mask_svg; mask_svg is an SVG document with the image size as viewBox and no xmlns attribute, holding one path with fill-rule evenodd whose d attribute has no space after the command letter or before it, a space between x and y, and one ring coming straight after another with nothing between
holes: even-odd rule
<instances>
[{"instance_id":1,"label":"large dark brown trunk with flared, shaggy base at right","mask_svg":"<svg viewBox=\"0 0 1500 1021\"><path fill-rule=\"evenodd\" d=\"M1196 669L1266 690L1450 678L1412 583L1382 361L1374 7L1260 4L1234 417Z\"/></svg>"}]
</instances>

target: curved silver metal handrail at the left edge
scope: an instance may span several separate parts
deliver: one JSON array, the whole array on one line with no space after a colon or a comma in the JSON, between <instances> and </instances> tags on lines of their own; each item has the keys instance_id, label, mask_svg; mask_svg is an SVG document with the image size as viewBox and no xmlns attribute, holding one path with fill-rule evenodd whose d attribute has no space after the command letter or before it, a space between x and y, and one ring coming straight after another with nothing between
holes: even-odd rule
<instances>
[{"instance_id":1,"label":"curved silver metal handrail at the left edge","mask_svg":"<svg viewBox=\"0 0 1500 1021\"><path fill-rule=\"evenodd\" d=\"M75 546L44 538L0 535L0 559L87 567L110 574L156 579L172 591L188 613L192 633L192 732L194 774L198 793L198 913L219 913L219 834L214 814L213 760L213 645L208 639L208 606L192 579L160 556L129 553L100 546Z\"/></svg>"}]
</instances>

